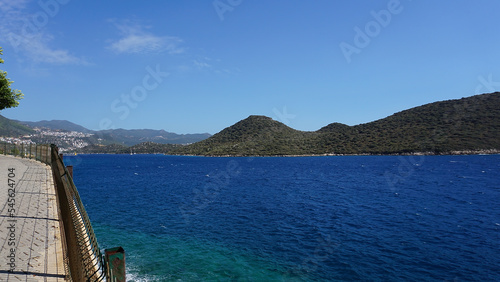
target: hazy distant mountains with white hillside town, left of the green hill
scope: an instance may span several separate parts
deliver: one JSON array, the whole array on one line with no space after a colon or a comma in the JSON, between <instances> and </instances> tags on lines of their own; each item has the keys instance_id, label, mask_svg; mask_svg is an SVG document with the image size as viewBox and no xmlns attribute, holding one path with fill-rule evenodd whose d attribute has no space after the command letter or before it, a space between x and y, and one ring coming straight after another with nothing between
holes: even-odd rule
<instances>
[{"instance_id":1,"label":"hazy distant mountains with white hillside town, left of the green hill","mask_svg":"<svg viewBox=\"0 0 500 282\"><path fill-rule=\"evenodd\" d=\"M123 153L131 150L166 152L210 136L208 133L176 134L154 129L94 131L66 120L29 122L10 120L0 115L0 143L56 144L61 153ZM129 149L139 144L143 145Z\"/></svg>"}]
</instances>

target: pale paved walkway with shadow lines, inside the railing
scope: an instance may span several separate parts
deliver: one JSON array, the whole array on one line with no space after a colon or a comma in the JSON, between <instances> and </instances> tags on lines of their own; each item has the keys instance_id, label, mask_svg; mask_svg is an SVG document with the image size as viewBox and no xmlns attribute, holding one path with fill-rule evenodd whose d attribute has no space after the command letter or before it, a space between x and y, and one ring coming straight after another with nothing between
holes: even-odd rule
<instances>
[{"instance_id":1,"label":"pale paved walkway with shadow lines, inside the railing","mask_svg":"<svg viewBox=\"0 0 500 282\"><path fill-rule=\"evenodd\" d=\"M0 281L65 281L57 209L49 166L0 155Z\"/></svg>"}]
</instances>

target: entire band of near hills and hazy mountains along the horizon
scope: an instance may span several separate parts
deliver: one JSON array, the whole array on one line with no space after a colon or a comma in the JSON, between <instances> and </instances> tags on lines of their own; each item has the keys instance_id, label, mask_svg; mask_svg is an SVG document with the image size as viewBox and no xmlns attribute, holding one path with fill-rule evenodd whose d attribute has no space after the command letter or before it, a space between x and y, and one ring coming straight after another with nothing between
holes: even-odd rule
<instances>
[{"instance_id":1,"label":"entire band of near hills and hazy mountains along the horizon","mask_svg":"<svg viewBox=\"0 0 500 282\"><path fill-rule=\"evenodd\" d=\"M199 156L500 153L500 92L430 103L355 126L331 123L317 131L299 131L269 117L249 116L213 136L150 129L92 131L68 121L16 122L0 116L0 137L36 136L33 128L57 131L57 134L40 134L43 138L39 139L31 137L38 143L64 144L67 151L84 153ZM60 131L69 133L61 137ZM50 134L53 139L47 139Z\"/></svg>"}]
</instances>

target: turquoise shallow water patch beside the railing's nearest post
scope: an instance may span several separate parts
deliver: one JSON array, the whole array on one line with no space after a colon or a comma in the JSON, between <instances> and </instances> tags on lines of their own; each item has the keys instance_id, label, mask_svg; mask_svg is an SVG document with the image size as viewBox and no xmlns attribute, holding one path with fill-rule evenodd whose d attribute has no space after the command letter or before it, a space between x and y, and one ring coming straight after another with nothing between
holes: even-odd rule
<instances>
[{"instance_id":1,"label":"turquoise shallow water patch beside the railing's nearest post","mask_svg":"<svg viewBox=\"0 0 500 282\"><path fill-rule=\"evenodd\" d=\"M292 278L277 263L215 242L154 236L95 224L102 246L123 246L127 281L281 281ZM107 240L109 239L109 240ZM134 252L130 252L134 250Z\"/></svg>"}]
</instances>

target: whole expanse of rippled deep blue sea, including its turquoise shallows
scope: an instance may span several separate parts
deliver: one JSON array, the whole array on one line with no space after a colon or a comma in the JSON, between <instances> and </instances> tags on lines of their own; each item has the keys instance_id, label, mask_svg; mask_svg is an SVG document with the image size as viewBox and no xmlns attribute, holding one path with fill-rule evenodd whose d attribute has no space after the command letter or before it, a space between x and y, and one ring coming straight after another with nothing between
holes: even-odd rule
<instances>
[{"instance_id":1,"label":"whole expanse of rippled deep blue sea, including its turquoise shallows","mask_svg":"<svg viewBox=\"0 0 500 282\"><path fill-rule=\"evenodd\" d=\"M500 156L65 156L135 281L500 281Z\"/></svg>"}]
</instances>

